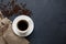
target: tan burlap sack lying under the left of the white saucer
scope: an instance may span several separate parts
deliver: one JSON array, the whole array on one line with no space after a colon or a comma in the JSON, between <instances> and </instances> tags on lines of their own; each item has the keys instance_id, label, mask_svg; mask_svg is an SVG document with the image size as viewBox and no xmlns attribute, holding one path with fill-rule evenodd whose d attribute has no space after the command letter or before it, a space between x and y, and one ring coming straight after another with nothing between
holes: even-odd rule
<instances>
[{"instance_id":1,"label":"tan burlap sack lying under the left of the white saucer","mask_svg":"<svg viewBox=\"0 0 66 44\"><path fill-rule=\"evenodd\" d=\"M0 44L29 44L25 37L16 36L12 31L11 21L9 19L1 20L0 24ZM1 23L0 22L0 23Z\"/></svg>"}]
</instances>

